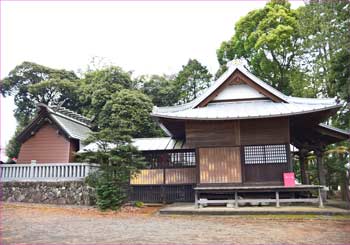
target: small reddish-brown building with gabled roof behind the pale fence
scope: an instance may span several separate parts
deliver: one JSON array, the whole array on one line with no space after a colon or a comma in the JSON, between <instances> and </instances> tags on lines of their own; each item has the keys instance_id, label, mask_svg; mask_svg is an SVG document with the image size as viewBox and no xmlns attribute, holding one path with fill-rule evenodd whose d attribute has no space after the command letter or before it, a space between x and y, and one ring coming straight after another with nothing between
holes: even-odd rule
<instances>
[{"instance_id":1,"label":"small reddish-brown building with gabled roof behind the pale fence","mask_svg":"<svg viewBox=\"0 0 350 245\"><path fill-rule=\"evenodd\" d=\"M88 137L90 120L64 107L38 105L37 116L18 135L17 163L69 163Z\"/></svg>"}]
</instances>

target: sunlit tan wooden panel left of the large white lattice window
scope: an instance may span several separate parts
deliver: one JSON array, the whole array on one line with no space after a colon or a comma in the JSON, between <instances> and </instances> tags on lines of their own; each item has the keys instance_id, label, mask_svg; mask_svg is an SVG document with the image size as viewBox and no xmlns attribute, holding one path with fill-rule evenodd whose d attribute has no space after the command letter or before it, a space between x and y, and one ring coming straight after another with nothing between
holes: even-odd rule
<instances>
[{"instance_id":1,"label":"sunlit tan wooden panel left of the large white lattice window","mask_svg":"<svg viewBox=\"0 0 350 245\"><path fill-rule=\"evenodd\" d=\"M240 148L199 149L200 183L242 182Z\"/></svg>"}]
</instances>

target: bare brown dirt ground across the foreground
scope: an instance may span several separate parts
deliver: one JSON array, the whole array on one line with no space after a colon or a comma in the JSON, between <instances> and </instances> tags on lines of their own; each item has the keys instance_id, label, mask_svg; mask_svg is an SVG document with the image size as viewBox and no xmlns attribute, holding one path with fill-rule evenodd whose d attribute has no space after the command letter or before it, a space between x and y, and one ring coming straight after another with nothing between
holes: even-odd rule
<instances>
[{"instance_id":1,"label":"bare brown dirt ground across the foreground","mask_svg":"<svg viewBox=\"0 0 350 245\"><path fill-rule=\"evenodd\" d=\"M0 244L349 244L349 216L160 216L1 203Z\"/></svg>"}]
</instances>

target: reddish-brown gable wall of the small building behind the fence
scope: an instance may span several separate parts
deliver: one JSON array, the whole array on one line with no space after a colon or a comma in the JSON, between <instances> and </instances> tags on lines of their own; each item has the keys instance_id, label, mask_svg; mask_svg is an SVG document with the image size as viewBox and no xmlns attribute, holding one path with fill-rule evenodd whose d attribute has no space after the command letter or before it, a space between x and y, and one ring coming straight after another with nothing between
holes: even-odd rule
<instances>
[{"instance_id":1,"label":"reddish-brown gable wall of the small building behind the fence","mask_svg":"<svg viewBox=\"0 0 350 245\"><path fill-rule=\"evenodd\" d=\"M68 163L70 142L51 124L43 125L20 149L18 163Z\"/></svg>"}]
</instances>

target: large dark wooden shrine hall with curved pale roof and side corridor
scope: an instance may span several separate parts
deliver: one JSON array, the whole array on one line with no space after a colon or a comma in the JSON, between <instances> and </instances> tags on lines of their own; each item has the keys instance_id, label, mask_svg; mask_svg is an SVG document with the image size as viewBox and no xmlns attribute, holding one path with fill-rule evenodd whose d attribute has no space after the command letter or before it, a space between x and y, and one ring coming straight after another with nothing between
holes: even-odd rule
<instances>
[{"instance_id":1,"label":"large dark wooden shrine hall with curved pale roof and side corridor","mask_svg":"<svg viewBox=\"0 0 350 245\"><path fill-rule=\"evenodd\" d=\"M349 139L349 132L322 124L340 107L333 98L286 96L244 67L230 66L195 100L153 109L169 137L133 140L148 167L131 179L130 199L238 206L254 196L277 206L322 205L322 198L298 193L322 190L325 147ZM284 173L293 171L290 145L299 149L301 162L305 152L316 153L320 185L284 186Z\"/></svg>"}]
</instances>

